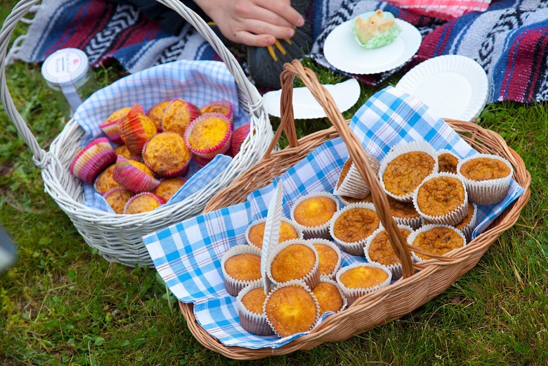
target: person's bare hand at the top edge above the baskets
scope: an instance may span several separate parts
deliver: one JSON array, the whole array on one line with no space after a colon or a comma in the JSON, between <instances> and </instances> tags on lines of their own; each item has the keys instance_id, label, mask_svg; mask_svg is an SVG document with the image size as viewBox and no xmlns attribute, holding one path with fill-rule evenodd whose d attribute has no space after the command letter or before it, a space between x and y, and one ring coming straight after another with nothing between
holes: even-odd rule
<instances>
[{"instance_id":1,"label":"person's bare hand at the top edge above the baskets","mask_svg":"<svg viewBox=\"0 0 548 366\"><path fill-rule=\"evenodd\" d=\"M290 0L195 0L232 42L265 47L304 24Z\"/></svg>"}]
</instances>

